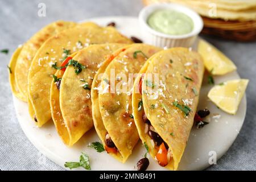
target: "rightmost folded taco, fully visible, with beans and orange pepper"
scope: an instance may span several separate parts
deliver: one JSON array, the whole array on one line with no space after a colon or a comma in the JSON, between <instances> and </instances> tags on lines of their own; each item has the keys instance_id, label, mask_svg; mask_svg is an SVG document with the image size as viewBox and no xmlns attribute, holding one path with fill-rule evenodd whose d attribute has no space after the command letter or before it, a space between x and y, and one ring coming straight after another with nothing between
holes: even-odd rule
<instances>
[{"instance_id":1,"label":"rightmost folded taco, fully visible, with beans and orange pepper","mask_svg":"<svg viewBox=\"0 0 256 182\"><path fill-rule=\"evenodd\" d=\"M198 53L171 48L147 60L134 82L139 137L160 166L176 170L199 101L204 65Z\"/></svg>"}]
</instances>

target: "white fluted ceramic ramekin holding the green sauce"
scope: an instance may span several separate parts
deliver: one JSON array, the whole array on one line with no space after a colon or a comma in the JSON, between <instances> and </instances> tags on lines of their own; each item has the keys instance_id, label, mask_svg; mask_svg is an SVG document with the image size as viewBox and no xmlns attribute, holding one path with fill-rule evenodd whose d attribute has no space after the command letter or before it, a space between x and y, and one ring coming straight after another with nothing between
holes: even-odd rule
<instances>
[{"instance_id":1,"label":"white fluted ceramic ramekin holding the green sauce","mask_svg":"<svg viewBox=\"0 0 256 182\"><path fill-rule=\"evenodd\" d=\"M155 31L147 24L148 16L156 10L170 9L188 15L193 20L193 30L184 35L168 35ZM158 47L191 47L197 35L203 29L203 20L199 14L188 7L175 3L159 3L144 7L139 13L139 24L141 26L144 43Z\"/></svg>"}]
</instances>

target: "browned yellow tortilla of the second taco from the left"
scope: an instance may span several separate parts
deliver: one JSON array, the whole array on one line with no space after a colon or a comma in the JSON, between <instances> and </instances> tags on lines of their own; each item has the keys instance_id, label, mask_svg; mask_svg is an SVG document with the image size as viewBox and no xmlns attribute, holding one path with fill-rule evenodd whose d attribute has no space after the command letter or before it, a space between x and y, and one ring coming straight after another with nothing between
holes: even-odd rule
<instances>
[{"instance_id":1,"label":"browned yellow tortilla of the second taco from the left","mask_svg":"<svg viewBox=\"0 0 256 182\"><path fill-rule=\"evenodd\" d=\"M50 88L52 75L66 56L99 43L131 43L113 27L77 26L49 38L36 53L28 73L28 104L34 109L36 125L43 126L51 119ZM33 113L33 112L30 112Z\"/></svg>"}]
</instances>

